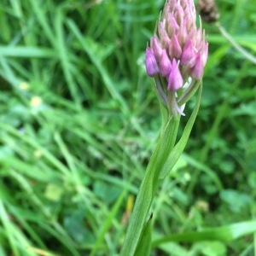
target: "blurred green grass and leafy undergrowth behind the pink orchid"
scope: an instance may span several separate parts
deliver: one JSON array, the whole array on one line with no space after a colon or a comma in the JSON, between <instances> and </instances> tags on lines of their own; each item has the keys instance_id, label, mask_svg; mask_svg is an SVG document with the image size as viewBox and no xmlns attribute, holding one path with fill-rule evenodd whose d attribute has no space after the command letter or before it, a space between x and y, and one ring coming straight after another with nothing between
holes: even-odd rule
<instances>
[{"instance_id":1,"label":"blurred green grass and leafy undergrowth behind the pink orchid","mask_svg":"<svg viewBox=\"0 0 256 256\"><path fill-rule=\"evenodd\" d=\"M221 24L256 55L256 3L217 3ZM163 4L1 1L1 256L119 253L160 131L143 62ZM256 214L255 65L203 26L201 110L155 198L153 239ZM169 242L152 255L253 255L253 242Z\"/></svg>"}]
</instances>

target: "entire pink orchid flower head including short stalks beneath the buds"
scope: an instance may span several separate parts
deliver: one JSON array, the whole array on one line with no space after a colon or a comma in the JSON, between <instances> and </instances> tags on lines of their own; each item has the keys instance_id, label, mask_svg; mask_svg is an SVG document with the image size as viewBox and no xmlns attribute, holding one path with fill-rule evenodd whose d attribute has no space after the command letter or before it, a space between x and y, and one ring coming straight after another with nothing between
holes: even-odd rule
<instances>
[{"instance_id":1,"label":"entire pink orchid flower head including short stalks beneath the buds","mask_svg":"<svg viewBox=\"0 0 256 256\"><path fill-rule=\"evenodd\" d=\"M208 43L201 20L196 26L193 0L166 1L146 49L145 64L148 76L156 80L161 102L172 115L184 115L178 98L202 78L207 55Z\"/></svg>"}]
</instances>

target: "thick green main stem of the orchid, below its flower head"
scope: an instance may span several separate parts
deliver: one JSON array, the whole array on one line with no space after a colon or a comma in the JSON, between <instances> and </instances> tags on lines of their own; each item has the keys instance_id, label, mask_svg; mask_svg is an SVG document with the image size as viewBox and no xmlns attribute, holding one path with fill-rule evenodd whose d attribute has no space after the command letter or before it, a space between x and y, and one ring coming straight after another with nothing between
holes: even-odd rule
<instances>
[{"instance_id":1,"label":"thick green main stem of the orchid, below its flower head","mask_svg":"<svg viewBox=\"0 0 256 256\"><path fill-rule=\"evenodd\" d=\"M168 120L163 129L164 131L161 133L160 141L148 163L148 168L137 195L137 200L126 232L124 245L121 249L121 256L132 256L135 253L137 243L142 234L144 224L146 223L149 208L151 207L159 185L158 176L161 167L165 163L169 152L175 144L178 125L179 118L171 118Z\"/></svg>"}]
</instances>

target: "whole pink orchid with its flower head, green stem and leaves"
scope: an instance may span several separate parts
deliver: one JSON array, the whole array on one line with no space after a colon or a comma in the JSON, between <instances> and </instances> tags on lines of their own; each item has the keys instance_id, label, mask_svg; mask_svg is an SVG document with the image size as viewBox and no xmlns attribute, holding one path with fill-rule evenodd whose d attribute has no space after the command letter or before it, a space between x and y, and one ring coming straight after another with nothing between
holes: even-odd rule
<instances>
[{"instance_id":1,"label":"whole pink orchid with its flower head, green stem and leaves","mask_svg":"<svg viewBox=\"0 0 256 256\"><path fill-rule=\"evenodd\" d=\"M129 218L120 256L148 256L153 229L152 202L161 181L172 171L183 154L200 108L202 76L207 63L205 32L196 26L193 0L167 0L153 37L146 49L146 71L154 78L162 103L160 137L148 162ZM194 108L183 132L178 132L186 102L196 92ZM157 218L157 214L154 216Z\"/></svg>"}]
</instances>

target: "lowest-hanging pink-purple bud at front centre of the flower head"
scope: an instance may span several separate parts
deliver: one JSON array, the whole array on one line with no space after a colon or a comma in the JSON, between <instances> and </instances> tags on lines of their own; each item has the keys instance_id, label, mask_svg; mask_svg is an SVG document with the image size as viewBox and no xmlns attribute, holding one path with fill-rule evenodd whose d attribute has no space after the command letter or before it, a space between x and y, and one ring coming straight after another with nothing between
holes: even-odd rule
<instances>
[{"instance_id":1,"label":"lowest-hanging pink-purple bud at front centre of the flower head","mask_svg":"<svg viewBox=\"0 0 256 256\"><path fill-rule=\"evenodd\" d=\"M180 73L178 66L179 66L179 61L176 61L176 59L173 59L172 69L168 79L168 87L167 87L168 90L178 90L181 87L183 87L183 76Z\"/></svg>"}]
</instances>

